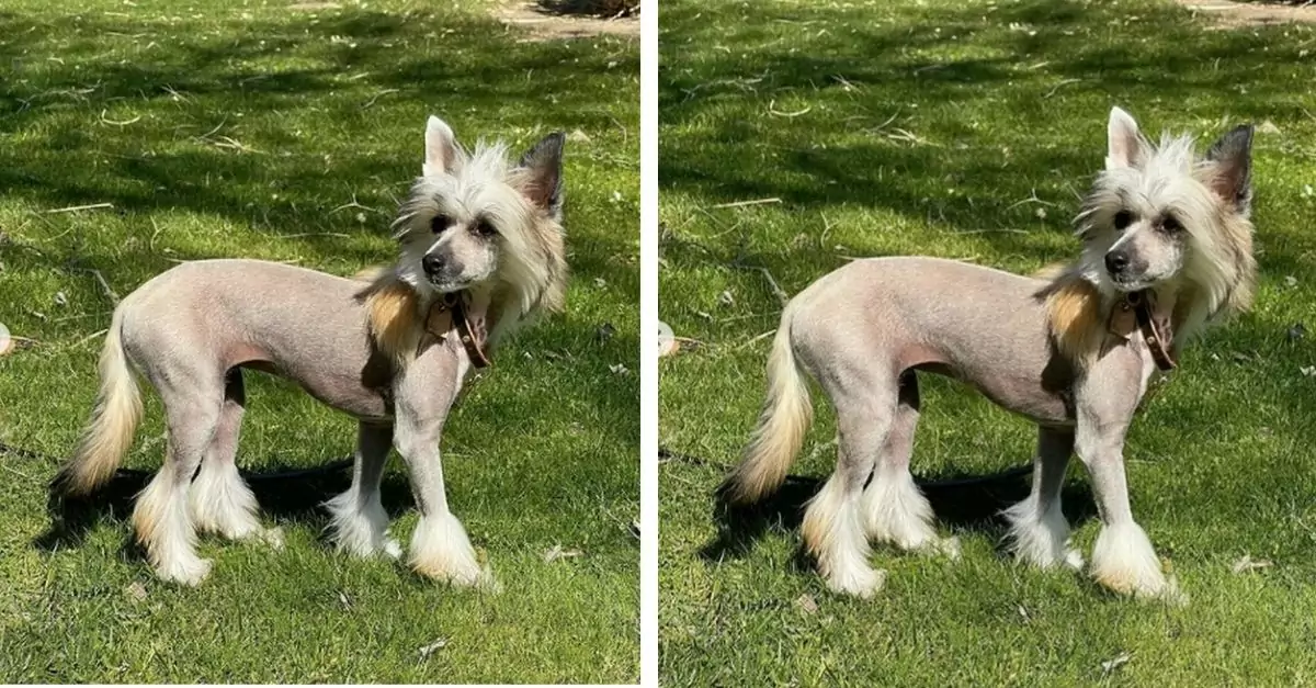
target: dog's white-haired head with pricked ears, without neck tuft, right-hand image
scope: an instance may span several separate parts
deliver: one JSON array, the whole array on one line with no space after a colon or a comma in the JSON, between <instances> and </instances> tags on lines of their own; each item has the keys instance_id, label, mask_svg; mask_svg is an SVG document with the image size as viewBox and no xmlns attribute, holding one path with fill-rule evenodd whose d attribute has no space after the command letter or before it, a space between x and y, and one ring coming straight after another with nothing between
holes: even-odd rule
<instances>
[{"instance_id":1,"label":"dog's white-haired head with pricked ears, without neck tuft, right-hand image","mask_svg":"<svg viewBox=\"0 0 1316 688\"><path fill-rule=\"evenodd\" d=\"M1105 293L1191 285L1211 311L1232 298L1252 277L1252 133L1237 127L1199 157L1191 137L1153 145L1113 108L1105 170L1078 217L1084 277Z\"/></svg>"}]
</instances>

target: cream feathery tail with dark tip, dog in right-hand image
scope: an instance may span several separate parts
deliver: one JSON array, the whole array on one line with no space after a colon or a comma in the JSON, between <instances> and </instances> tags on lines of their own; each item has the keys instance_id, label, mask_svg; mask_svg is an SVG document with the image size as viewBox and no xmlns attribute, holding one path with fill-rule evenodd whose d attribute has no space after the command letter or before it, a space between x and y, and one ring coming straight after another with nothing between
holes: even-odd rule
<instances>
[{"instance_id":1,"label":"cream feathery tail with dark tip, dog in right-hand image","mask_svg":"<svg viewBox=\"0 0 1316 688\"><path fill-rule=\"evenodd\" d=\"M786 472L800 453L804 432L813 422L809 389L795 362L791 320L795 310L787 304L782 324L772 339L767 358L767 401L758 427L740 465L722 482L721 494L730 503L753 503L776 492Z\"/></svg>"}]
</instances>

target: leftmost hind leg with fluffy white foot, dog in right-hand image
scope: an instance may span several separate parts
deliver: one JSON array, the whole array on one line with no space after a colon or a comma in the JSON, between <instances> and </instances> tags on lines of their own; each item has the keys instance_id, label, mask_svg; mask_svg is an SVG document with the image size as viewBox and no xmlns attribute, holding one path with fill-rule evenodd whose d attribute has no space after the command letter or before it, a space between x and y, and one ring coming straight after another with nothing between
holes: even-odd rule
<instances>
[{"instance_id":1,"label":"leftmost hind leg with fluffy white foot, dog in right-hand image","mask_svg":"<svg viewBox=\"0 0 1316 688\"><path fill-rule=\"evenodd\" d=\"M884 571L869 564L863 484L873 473L891 431L896 407L896 381L824 377L836 403L837 467L804 511L804 546L817 559L828 588L871 597L886 581Z\"/></svg>"}]
</instances>

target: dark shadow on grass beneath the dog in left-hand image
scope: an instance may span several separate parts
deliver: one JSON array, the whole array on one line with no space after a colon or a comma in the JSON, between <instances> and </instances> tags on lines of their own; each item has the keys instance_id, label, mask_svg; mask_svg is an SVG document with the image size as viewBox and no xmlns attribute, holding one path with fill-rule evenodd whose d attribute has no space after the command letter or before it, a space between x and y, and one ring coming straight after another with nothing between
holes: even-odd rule
<instances>
[{"instance_id":1,"label":"dark shadow on grass beneath the dog in left-hand image","mask_svg":"<svg viewBox=\"0 0 1316 688\"><path fill-rule=\"evenodd\" d=\"M46 510L50 526L33 538L32 544L42 552L79 547L101 522L124 523L133 511L133 501L142 492L154 471L118 471L113 478L88 497L63 497L51 490ZM351 465L342 461L316 468L271 467L253 473L242 472L259 503L261 517L276 525L299 525L320 532L326 543L329 513L324 502L342 493L351 484ZM395 518L413 505L411 486L403 476L384 473L380 501L390 518ZM130 538L124 554L141 559L142 552Z\"/></svg>"}]
</instances>

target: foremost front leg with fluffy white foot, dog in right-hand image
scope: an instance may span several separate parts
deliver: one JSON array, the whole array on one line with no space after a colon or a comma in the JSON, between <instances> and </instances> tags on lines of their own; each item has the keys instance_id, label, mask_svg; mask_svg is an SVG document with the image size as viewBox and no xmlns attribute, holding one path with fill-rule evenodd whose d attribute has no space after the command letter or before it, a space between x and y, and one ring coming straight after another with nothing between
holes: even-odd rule
<instances>
[{"instance_id":1,"label":"foremost front leg with fluffy white foot, dog in right-hand image","mask_svg":"<svg viewBox=\"0 0 1316 688\"><path fill-rule=\"evenodd\" d=\"M1132 409L1128 415L1132 416ZM1152 540L1133 521L1124 474L1128 427L1128 419L1111 419L1101 416L1100 409L1079 407L1075 451L1091 476L1101 517L1101 532L1092 548L1092 577L1121 594L1184 602L1174 577L1167 579L1161 571Z\"/></svg>"}]
</instances>

